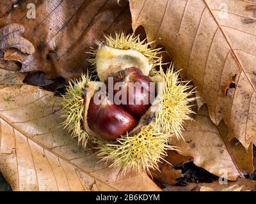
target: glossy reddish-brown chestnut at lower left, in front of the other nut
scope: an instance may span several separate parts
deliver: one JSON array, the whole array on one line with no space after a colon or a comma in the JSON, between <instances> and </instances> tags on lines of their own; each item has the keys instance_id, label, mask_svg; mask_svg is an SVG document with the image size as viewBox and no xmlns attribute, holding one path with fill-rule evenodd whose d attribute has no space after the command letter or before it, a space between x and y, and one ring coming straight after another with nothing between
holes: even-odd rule
<instances>
[{"instance_id":1,"label":"glossy reddish-brown chestnut at lower left, in front of the other nut","mask_svg":"<svg viewBox=\"0 0 256 204\"><path fill-rule=\"evenodd\" d=\"M88 126L106 140L116 140L138 124L122 106L111 102L106 99L106 103L97 105L92 97L87 113Z\"/></svg>"}]
</instances>

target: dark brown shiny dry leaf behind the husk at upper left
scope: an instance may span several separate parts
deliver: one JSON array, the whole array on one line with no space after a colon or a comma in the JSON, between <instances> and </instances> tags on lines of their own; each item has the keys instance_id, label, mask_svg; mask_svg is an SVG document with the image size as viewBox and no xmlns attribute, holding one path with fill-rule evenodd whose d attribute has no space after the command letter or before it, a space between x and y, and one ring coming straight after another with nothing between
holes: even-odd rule
<instances>
[{"instance_id":1,"label":"dark brown shiny dry leaf behind the husk at upper left","mask_svg":"<svg viewBox=\"0 0 256 204\"><path fill-rule=\"evenodd\" d=\"M26 17L28 3L35 4L35 19ZM126 0L21 1L15 8L1 2L0 7L0 27L19 22L26 27L24 38L35 45L29 57L9 49L4 59L18 58L20 71L42 71L48 78L80 77L90 66L86 52L95 47L95 40L103 40L104 33L132 30Z\"/></svg>"}]
</instances>

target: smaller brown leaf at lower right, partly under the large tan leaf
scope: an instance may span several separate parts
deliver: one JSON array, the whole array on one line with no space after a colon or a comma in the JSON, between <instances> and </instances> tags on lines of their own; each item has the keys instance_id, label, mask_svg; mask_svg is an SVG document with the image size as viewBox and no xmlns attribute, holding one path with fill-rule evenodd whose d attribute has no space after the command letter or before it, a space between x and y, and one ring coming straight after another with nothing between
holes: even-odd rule
<instances>
[{"instance_id":1,"label":"smaller brown leaf at lower right, partly under the large tan leaf","mask_svg":"<svg viewBox=\"0 0 256 204\"><path fill-rule=\"evenodd\" d=\"M252 148L247 152L239 143L230 145L227 135L209 118L206 106L194 121L184 124L184 129L184 140L173 138L172 143L179 147L180 154L193 157L196 166L229 180L243 177L243 172L253 172Z\"/></svg>"}]
</instances>

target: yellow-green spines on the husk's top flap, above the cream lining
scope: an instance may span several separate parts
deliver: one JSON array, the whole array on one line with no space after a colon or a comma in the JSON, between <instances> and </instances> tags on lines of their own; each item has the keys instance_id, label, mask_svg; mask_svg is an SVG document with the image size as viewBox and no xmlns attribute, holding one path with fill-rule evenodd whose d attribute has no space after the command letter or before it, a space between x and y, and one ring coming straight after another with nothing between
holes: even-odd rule
<instances>
[{"instance_id":1,"label":"yellow-green spines on the husk's top flap, above the cream lining","mask_svg":"<svg viewBox=\"0 0 256 204\"><path fill-rule=\"evenodd\" d=\"M95 42L97 45L100 45L102 43L101 41ZM109 47L121 49L121 50L135 50L140 52L141 54L145 55L145 57L148 58L148 63L150 65L150 68L153 69L156 66L159 66L161 64L161 57L159 57L159 54L161 53L161 48L152 49L150 48L150 45L155 43L155 41L151 41L146 43L145 40L140 40L140 36L134 36L134 34L125 34L125 33L116 33L115 37L112 36L105 36L105 43ZM97 50L92 50L90 52L87 52L87 54L92 55L92 59L89 59L88 61L92 63L93 66L96 66L96 54Z\"/></svg>"}]
</instances>

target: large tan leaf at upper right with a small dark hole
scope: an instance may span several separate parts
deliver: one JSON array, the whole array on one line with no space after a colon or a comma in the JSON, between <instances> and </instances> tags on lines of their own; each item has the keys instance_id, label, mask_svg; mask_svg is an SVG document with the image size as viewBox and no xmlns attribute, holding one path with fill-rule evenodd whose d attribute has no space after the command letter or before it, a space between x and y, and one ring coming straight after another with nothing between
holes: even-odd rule
<instances>
[{"instance_id":1,"label":"large tan leaf at upper right with a small dark hole","mask_svg":"<svg viewBox=\"0 0 256 204\"><path fill-rule=\"evenodd\" d=\"M132 27L143 25L198 87L198 105L225 121L228 139L256 142L256 7L254 1L130 0Z\"/></svg>"}]
</instances>

